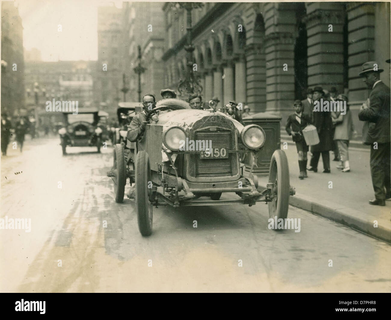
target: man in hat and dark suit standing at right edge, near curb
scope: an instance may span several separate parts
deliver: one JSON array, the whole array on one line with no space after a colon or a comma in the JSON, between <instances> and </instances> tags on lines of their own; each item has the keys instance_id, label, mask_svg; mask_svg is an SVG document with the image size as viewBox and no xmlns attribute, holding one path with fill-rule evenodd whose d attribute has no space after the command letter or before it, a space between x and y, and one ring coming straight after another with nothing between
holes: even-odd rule
<instances>
[{"instance_id":1,"label":"man in hat and dark suit standing at right edge, near curb","mask_svg":"<svg viewBox=\"0 0 391 320\"><path fill-rule=\"evenodd\" d=\"M369 61L362 65L359 76L371 89L369 106L361 106L359 119L369 121L368 142L371 145L370 166L375 199L369 204L385 206L385 200L391 197L390 190L390 89L382 80L376 61Z\"/></svg>"}]
</instances>

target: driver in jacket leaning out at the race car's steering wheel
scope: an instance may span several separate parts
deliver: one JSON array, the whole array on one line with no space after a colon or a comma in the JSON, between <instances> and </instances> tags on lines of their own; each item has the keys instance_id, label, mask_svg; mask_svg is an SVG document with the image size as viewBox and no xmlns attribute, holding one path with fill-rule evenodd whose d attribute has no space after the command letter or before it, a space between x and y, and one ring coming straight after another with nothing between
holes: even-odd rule
<instances>
[{"instance_id":1,"label":"driver in jacket leaning out at the race car's steering wheel","mask_svg":"<svg viewBox=\"0 0 391 320\"><path fill-rule=\"evenodd\" d=\"M140 141L144 135L145 126L147 121L145 117L147 112L151 111L156 106L155 96L153 94L147 93L143 96L143 111L136 114L133 117L127 132L127 139L135 142Z\"/></svg>"}]
</instances>

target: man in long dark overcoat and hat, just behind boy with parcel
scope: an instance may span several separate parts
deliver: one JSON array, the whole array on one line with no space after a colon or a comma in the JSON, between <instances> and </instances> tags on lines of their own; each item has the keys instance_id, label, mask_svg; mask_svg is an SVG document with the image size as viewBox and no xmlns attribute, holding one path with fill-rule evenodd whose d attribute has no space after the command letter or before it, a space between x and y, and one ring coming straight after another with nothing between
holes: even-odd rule
<instances>
[{"instance_id":1,"label":"man in long dark overcoat and hat, just behind boy with parcel","mask_svg":"<svg viewBox=\"0 0 391 320\"><path fill-rule=\"evenodd\" d=\"M325 92L322 87L315 87L312 98L314 101L319 101L324 99ZM312 107L313 110L314 107ZM317 165L319 162L319 157L322 154L323 161L323 172L330 173L330 150L334 147L334 138L333 138L333 123L331 120L330 112L328 111L313 111L312 112L312 123L317 129L319 136L319 143L317 145L311 146L311 161L310 168L308 171L317 172Z\"/></svg>"}]
</instances>

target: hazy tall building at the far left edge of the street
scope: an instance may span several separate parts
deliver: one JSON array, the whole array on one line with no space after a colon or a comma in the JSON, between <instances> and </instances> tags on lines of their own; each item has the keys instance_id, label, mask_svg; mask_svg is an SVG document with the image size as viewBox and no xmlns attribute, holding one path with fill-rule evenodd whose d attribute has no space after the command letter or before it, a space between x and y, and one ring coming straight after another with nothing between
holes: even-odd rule
<instances>
[{"instance_id":1,"label":"hazy tall building at the far left edge of the street","mask_svg":"<svg viewBox=\"0 0 391 320\"><path fill-rule=\"evenodd\" d=\"M25 107L23 26L13 1L1 3L1 106L9 116Z\"/></svg>"}]
</instances>

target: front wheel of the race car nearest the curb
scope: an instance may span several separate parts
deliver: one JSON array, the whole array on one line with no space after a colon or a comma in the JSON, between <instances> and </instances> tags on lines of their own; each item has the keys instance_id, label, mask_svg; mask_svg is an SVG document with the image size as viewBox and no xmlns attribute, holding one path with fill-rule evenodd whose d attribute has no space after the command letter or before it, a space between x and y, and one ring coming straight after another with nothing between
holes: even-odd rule
<instances>
[{"instance_id":1,"label":"front wheel of the race car nearest the curb","mask_svg":"<svg viewBox=\"0 0 391 320\"><path fill-rule=\"evenodd\" d=\"M269 183L274 183L274 198L268 202L269 217L277 216L277 219L285 219L289 208L289 166L285 152L274 151L269 168ZM279 230L274 228L274 230Z\"/></svg>"}]
</instances>

